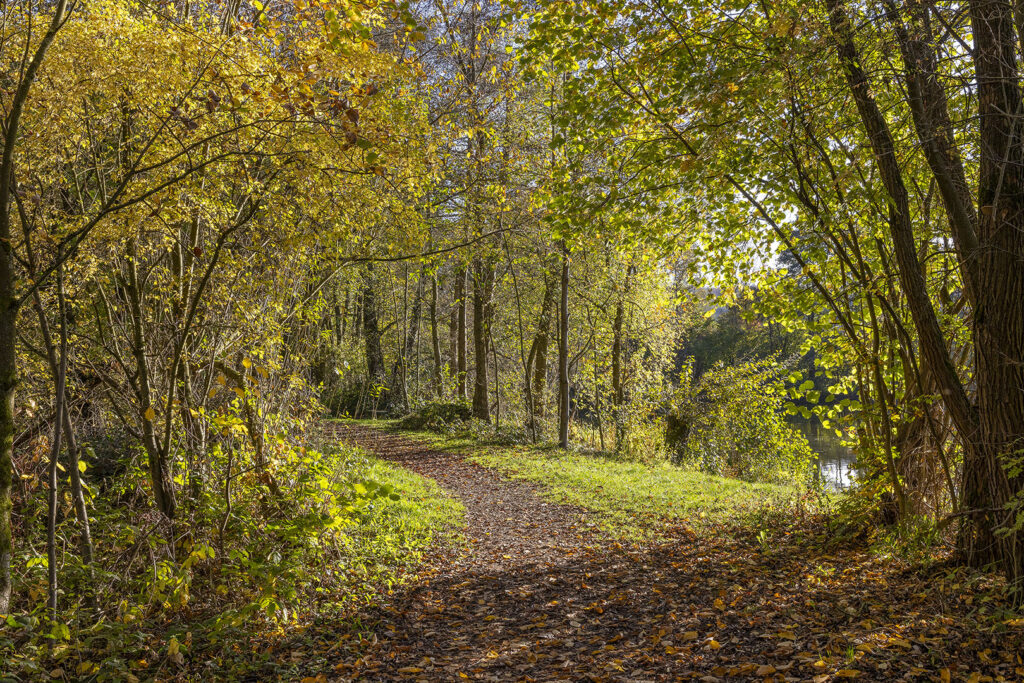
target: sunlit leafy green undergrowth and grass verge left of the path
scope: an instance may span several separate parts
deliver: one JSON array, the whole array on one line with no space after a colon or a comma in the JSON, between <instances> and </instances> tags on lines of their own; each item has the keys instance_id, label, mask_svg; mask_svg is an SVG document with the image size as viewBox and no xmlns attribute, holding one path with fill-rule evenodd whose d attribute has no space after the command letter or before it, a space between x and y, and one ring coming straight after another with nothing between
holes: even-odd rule
<instances>
[{"instance_id":1,"label":"sunlit leafy green undergrowth and grass verge left of the path","mask_svg":"<svg viewBox=\"0 0 1024 683\"><path fill-rule=\"evenodd\" d=\"M93 568L58 567L57 620L45 609L42 545L26 544L15 566L29 602L0 620L0 681L160 680L246 634L355 616L458 540L464 509L432 480L349 446L286 443L279 456L281 495L232 471L229 508L206 496L173 526L138 503L145 475L130 461L102 482L119 496L92 501ZM25 514L41 504L28 497ZM58 529L69 543L73 523Z\"/></svg>"}]
</instances>

